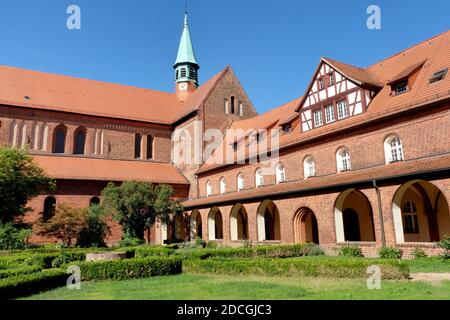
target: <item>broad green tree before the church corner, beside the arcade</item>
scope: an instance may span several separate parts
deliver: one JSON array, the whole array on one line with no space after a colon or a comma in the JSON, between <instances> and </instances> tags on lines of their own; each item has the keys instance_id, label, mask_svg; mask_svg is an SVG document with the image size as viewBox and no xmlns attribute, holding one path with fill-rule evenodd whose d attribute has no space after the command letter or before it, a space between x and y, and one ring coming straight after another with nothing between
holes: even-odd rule
<instances>
[{"instance_id":1,"label":"broad green tree before the church corner, beside the arcade","mask_svg":"<svg viewBox=\"0 0 450 320\"><path fill-rule=\"evenodd\" d=\"M103 205L114 212L113 218L123 229L124 238L144 239L145 229L156 219L168 223L170 215L183 212L173 200L171 186L154 186L147 182L128 181L120 186L113 183L103 190Z\"/></svg>"}]
</instances>

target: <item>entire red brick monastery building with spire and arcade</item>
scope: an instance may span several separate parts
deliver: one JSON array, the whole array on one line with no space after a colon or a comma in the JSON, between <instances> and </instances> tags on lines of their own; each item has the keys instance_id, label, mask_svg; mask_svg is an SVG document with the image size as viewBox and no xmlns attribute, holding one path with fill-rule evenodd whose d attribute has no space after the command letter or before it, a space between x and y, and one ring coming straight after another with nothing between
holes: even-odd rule
<instances>
[{"instance_id":1,"label":"entire red brick monastery building with spire and arcade","mask_svg":"<svg viewBox=\"0 0 450 320\"><path fill-rule=\"evenodd\" d=\"M28 146L57 179L30 222L140 180L172 185L186 208L152 243L437 253L450 234L449 64L450 32L367 68L322 58L302 97L257 115L230 67L199 86L186 18L176 93L0 67L0 142Z\"/></svg>"}]
</instances>

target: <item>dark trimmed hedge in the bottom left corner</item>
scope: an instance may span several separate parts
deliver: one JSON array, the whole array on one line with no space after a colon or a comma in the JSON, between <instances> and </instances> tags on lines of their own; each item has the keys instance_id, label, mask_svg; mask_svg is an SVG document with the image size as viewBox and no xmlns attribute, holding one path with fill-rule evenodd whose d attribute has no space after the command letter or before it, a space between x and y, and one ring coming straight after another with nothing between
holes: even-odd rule
<instances>
[{"instance_id":1,"label":"dark trimmed hedge in the bottom left corner","mask_svg":"<svg viewBox=\"0 0 450 320\"><path fill-rule=\"evenodd\" d=\"M66 285L62 270L48 270L0 280L0 299L14 299Z\"/></svg>"}]
</instances>

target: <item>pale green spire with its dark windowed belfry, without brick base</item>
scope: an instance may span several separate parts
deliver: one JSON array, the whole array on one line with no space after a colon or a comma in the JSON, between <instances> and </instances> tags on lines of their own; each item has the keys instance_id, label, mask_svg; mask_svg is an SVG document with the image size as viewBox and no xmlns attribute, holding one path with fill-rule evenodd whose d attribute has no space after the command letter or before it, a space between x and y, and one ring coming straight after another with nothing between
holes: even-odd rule
<instances>
[{"instance_id":1,"label":"pale green spire with its dark windowed belfry, without brick base","mask_svg":"<svg viewBox=\"0 0 450 320\"><path fill-rule=\"evenodd\" d=\"M194 48L189 33L187 11L184 15L184 28L183 33L181 34L177 60L173 67L175 69L176 82L194 81L195 84L198 84L197 71L200 69L200 66L195 59Z\"/></svg>"}]
</instances>

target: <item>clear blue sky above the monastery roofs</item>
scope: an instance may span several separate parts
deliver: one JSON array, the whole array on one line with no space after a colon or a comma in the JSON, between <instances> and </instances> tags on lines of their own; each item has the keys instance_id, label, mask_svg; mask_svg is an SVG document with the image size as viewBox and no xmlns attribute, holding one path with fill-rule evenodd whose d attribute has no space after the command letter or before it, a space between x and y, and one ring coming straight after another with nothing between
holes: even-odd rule
<instances>
[{"instance_id":1,"label":"clear blue sky above the monastery roofs","mask_svg":"<svg viewBox=\"0 0 450 320\"><path fill-rule=\"evenodd\" d=\"M0 0L0 64L173 91L184 0ZM66 28L66 8L82 29ZM366 27L379 5L382 29ZM450 29L448 0L188 0L200 81L231 65L259 112L303 95L321 56L365 67ZM1 84L0 84L1 85Z\"/></svg>"}]
</instances>

